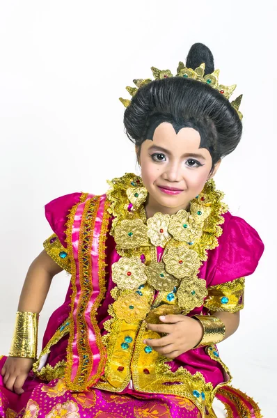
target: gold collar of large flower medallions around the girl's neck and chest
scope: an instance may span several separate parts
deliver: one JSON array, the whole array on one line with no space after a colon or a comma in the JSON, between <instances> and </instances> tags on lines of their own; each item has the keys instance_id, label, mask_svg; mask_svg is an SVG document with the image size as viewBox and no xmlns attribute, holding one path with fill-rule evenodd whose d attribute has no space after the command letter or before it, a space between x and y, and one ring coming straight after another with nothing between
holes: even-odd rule
<instances>
[{"instance_id":1,"label":"gold collar of large flower medallions around the girl's neck and chest","mask_svg":"<svg viewBox=\"0 0 277 418\"><path fill-rule=\"evenodd\" d=\"M175 294L184 314L202 306L207 288L205 280L198 278L199 268L207 260L207 250L219 245L222 214L227 211L214 180L207 181L189 211L179 210L171 216L157 212L149 219L144 208L148 191L139 176L125 173L108 183L108 210L113 215L110 233L121 256L112 265L118 290L137 295L147 283L156 291ZM161 260L157 247L164 249Z\"/></svg>"}]
</instances>

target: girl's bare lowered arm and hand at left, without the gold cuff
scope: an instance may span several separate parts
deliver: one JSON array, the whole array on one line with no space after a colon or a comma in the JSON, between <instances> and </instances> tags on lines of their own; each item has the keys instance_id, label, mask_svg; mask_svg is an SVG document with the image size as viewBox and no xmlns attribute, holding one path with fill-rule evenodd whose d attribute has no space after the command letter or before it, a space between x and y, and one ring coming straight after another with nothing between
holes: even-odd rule
<instances>
[{"instance_id":1,"label":"girl's bare lowered arm and hand at left, without the gold cuff","mask_svg":"<svg viewBox=\"0 0 277 418\"><path fill-rule=\"evenodd\" d=\"M19 298L18 311L39 314L45 303L53 277L63 269L43 250L31 263ZM22 386L35 359L8 357L1 375L7 389L22 394Z\"/></svg>"}]
</instances>

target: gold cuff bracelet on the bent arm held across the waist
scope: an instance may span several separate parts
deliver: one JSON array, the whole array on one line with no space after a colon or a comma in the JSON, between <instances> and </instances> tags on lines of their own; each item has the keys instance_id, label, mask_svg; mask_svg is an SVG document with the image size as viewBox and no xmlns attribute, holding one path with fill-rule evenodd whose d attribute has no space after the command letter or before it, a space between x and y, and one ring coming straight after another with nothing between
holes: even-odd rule
<instances>
[{"instance_id":1,"label":"gold cuff bracelet on the bent arm held across the waist","mask_svg":"<svg viewBox=\"0 0 277 418\"><path fill-rule=\"evenodd\" d=\"M192 318L199 320L204 329L202 340L196 347L193 348L220 343L220 341L224 339L225 325L221 319L210 315L194 315Z\"/></svg>"}]
</instances>

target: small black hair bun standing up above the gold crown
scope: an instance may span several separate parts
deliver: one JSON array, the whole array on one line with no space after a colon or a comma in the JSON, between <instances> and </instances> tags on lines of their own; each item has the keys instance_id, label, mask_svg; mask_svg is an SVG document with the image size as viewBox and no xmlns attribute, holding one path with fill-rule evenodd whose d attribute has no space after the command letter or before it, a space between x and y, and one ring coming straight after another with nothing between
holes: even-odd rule
<instances>
[{"instance_id":1,"label":"small black hair bun standing up above the gold crown","mask_svg":"<svg viewBox=\"0 0 277 418\"><path fill-rule=\"evenodd\" d=\"M186 67L195 70L205 63L205 75L214 72L214 56L206 45L198 42L191 46L187 54Z\"/></svg>"}]
</instances>

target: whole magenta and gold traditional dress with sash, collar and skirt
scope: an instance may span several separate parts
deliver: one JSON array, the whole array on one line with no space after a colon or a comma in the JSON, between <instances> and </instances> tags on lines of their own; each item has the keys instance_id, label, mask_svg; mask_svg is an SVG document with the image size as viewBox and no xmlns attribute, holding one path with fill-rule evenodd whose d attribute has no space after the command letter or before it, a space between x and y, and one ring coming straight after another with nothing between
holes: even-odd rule
<instances>
[{"instance_id":1,"label":"whole magenta and gold traditional dress with sash, collar and skirt","mask_svg":"<svg viewBox=\"0 0 277 418\"><path fill-rule=\"evenodd\" d=\"M144 339L159 315L209 315L244 307L244 277L264 246L228 212L209 180L190 210L146 220L148 193L127 173L106 194L73 193L45 206L54 231L44 247L71 274L49 319L42 352L17 395L0 380L0 417L261 417L230 386L216 345L168 359ZM6 357L0 360L0 369Z\"/></svg>"}]
</instances>

